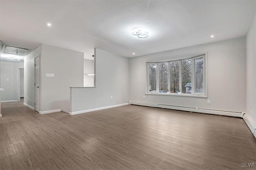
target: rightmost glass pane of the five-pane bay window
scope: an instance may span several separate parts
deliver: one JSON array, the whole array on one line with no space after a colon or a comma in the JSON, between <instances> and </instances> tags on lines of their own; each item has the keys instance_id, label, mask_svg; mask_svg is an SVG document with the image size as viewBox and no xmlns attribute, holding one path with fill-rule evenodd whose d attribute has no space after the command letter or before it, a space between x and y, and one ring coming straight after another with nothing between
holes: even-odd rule
<instances>
[{"instance_id":1,"label":"rightmost glass pane of the five-pane bay window","mask_svg":"<svg viewBox=\"0 0 256 170\"><path fill-rule=\"evenodd\" d=\"M204 60L195 59L195 93L204 92Z\"/></svg>"}]
</instances>

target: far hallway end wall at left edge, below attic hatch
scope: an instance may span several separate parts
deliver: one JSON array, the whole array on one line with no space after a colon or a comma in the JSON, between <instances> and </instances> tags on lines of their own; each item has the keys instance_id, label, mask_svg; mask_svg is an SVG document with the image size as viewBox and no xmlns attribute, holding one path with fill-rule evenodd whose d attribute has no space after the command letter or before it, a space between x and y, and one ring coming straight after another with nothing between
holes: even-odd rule
<instances>
[{"instance_id":1,"label":"far hallway end wall at left edge, below attic hatch","mask_svg":"<svg viewBox=\"0 0 256 170\"><path fill-rule=\"evenodd\" d=\"M1 61L1 84L5 92L1 92L1 101L18 101L18 68L24 68L24 63ZM9 81L7 81L9 79Z\"/></svg>"}]
</instances>

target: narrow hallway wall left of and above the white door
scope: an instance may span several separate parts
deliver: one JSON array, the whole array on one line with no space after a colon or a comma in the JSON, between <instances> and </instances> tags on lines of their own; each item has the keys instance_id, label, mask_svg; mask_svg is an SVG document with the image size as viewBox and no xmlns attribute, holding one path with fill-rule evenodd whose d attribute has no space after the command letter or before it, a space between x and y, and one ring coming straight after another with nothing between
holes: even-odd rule
<instances>
[{"instance_id":1,"label":"narrow hallway wall left of and above the white door","mask_svg":"<svg viewBox=\"0 0 256 170\"><path fill-rule=\"evenodd\" d=\"M42 53L42 45L24 58L24 103L34 108L35 58Z\"/></svg>"}]
</instances>

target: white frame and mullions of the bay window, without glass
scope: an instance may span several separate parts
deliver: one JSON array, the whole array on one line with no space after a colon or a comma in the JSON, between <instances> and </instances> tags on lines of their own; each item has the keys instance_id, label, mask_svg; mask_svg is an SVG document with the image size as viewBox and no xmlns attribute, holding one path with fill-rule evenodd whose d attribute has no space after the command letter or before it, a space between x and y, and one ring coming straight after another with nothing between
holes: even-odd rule
<instances>
[{"instance_id":1,"label":"white frame and mullions of the bay window, without glass","mask_svg":"<svg viewBox=\"0 0 256 170\"><path fill-rule=\"evenodd\" d=\"M204 92L203 93L195 93L194 92L194 82L195 82L195 59L203 58L203 80L204 80ZM170 62L179 61L179 86L180 92L182 92L182 60L191 59L191 94L181 93L159 93L159 63L166 63L168 62L168 89L170 89ZM149 92L149 64L156 64L156 92ZM172 59L166 61L159 61L159 62L147 62L146 63L146 94L153 94L153 95L167 95L167 96L189 96L189 97L202 97L207 98L208 95L208 52L203 53L201 55L194 55L194 57L182 57L179 59Z\"/></svg>"}]
</instances>

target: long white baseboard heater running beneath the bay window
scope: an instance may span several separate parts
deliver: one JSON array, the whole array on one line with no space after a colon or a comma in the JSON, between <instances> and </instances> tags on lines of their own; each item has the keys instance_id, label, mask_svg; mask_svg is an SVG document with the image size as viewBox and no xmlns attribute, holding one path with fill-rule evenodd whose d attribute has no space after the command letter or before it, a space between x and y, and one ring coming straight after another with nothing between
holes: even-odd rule
<instances>
[{"instance_id":1,"label":"long white baseboard heater running beneath the bay window","mask_svg":"<svg viewBox=\"0 0 256 170\"><path fill-rule=\"evenodd\" d=\"M129 104L140 105L140 106L150 106L150 107L160 107L165 109L174 109L174 110L182 110L182 111L192 111L192 112L207 113L207 114L214 114L214 115L234 116L234 117L241 117L243 115L241 112L201 109L196 107L171 106L171 105L164 105L164 104L153 104L153 103L134 102L134 101L129 101Z\"/></svg>"}]
</instances>

